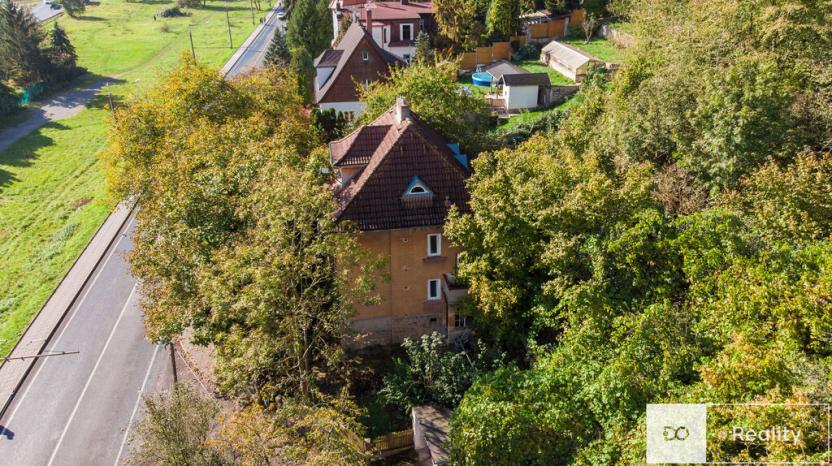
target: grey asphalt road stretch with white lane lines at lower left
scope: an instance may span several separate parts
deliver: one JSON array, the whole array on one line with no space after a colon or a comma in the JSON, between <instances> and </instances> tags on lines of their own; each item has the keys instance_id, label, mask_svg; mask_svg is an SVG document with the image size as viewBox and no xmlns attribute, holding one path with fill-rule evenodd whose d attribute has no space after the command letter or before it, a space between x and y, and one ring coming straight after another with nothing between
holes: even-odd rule
<instances>
[{"instance_id":1,"label":"grey asphalt road stretch with white lane lines at lower left","mask_svg":"<svg viewBox=\"0 0 832 466\"><path fill-rule=\"evenodd\" d=\"M131 219L47 346L78 353L40 358L0 420L0 464L123 462L142 394L169 386L170 355L145 339L126 261L134 228Z\"/></svg>"}]
</instances>

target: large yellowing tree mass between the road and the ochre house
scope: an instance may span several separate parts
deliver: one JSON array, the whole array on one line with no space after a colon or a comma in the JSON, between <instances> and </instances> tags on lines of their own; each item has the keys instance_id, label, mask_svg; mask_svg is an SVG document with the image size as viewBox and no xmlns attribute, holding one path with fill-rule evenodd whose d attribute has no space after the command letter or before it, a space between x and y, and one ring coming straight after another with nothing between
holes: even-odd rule
<instances>
[{"instance_id":1,"label":"large yellowing tree mass between the road and the ochre house","mask_svg":"<svg viewBox=\"0 0 832 466\"><path fill-rule=\"evenodd\" d=\"M316 373L338 380L349 303L372 283L345 275L359 256L330 215L319 135L291 73L226 81L184 60L116 114L105 159L113 193L142 206L131 265L148 336L192 327L239 399L312 399Z\"/></svg>"}]
</instances>

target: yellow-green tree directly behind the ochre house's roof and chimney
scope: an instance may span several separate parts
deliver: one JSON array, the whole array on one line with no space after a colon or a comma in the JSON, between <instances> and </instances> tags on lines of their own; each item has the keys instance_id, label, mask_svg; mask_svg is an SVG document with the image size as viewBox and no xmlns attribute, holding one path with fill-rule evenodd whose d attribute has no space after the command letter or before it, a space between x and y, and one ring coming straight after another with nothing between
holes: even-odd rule
<instances>
[{"instance_id":1,"label":"yellow-green tree directly behind the ochre house's roof and chimney","mask_svg":"<svg viewBox=\"0 0 832 466\"><path fill-rule=\"evenodd\" d=\"M482 98L459 91L453 65L414 63L392 70L388 81L371 83L361 90L361 101L367 104L361 122L373 121L399 96L408 99L419 118L450 141L459 142L464 150L479 152L493 147L491 108Z\"/></svg>"}]
</instances>

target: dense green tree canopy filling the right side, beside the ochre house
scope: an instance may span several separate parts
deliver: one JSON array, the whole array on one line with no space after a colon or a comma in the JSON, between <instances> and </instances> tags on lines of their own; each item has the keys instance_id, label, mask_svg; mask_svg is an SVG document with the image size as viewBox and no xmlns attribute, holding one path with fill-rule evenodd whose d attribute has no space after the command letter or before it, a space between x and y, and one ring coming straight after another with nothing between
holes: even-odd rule
<instances>
[{"instance_id":1,"label":"dense green tree canopy filling the right side, beside the ochre house","mask_svg":"<svg viewBox=\"0 0 832 466\"><path fill-rule=\"evenodd\" d=\"M643 464L647 403L832 395L822 3L632 2L612 81L586 84L556 132L474 161L472 211L446 234L477 328L517 367L466 393L456 462Z\"/></svg>"}]
</instances>

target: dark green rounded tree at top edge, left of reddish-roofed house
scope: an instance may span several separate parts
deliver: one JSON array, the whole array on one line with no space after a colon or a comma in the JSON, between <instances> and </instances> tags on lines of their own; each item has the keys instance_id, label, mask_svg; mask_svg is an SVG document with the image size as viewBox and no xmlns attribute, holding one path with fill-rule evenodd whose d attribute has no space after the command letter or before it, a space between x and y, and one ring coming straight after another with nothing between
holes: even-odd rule
<instances>
[{"instance_id":1,"label":"dark green rounded tree at top edge, left of reddish-roofed house","mask_svg":"<svg viewBox=\"0 0 832 466\"><path fill-rule=\"evenodd\" d=\"M325 0L296 0L286 26L289 48L302 48L311 57L318 56L332 41L332 17ZM310 59L311 63L311 59Z\"/></svg>"}]
</instances>

